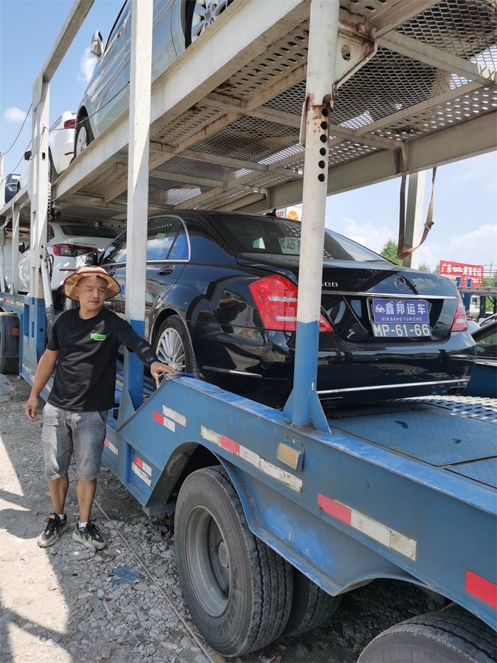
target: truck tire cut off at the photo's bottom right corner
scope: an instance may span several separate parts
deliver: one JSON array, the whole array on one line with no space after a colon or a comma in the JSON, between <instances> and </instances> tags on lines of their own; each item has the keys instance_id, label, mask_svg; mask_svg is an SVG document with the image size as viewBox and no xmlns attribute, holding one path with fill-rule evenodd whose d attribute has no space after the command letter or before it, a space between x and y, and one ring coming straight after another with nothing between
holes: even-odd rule
<instances>
[{"instance_id":1,"label":"truck tire cut off at the photo's bottom right corner","mask_svg":"<svg viewBox=\"0 0 497 663\"><path fill-rule=\"evenodd\" d=\"M494 663L496 634L459 606L419 615L380 633L357 663Z\"/></svg>"}]
</instances>

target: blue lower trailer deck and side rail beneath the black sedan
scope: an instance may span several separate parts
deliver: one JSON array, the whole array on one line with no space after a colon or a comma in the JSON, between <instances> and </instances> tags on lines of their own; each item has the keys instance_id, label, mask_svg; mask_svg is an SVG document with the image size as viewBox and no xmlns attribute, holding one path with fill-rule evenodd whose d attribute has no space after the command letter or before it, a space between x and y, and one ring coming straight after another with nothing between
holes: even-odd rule
<instances>
[{"instance_id":1,"label":"blue lower trailer deck and side rail beneath the black sedan","mask_svg":"<svg viewBox=\"0 0 497 663\"><path fill-rule=\"evenodd\" d=\"M253 534L328 593L398 578L496 627L497 404L461 404L337 410L322 433L177 377L136 413L124 393L104 460L148 513L221 463Z\"/></svg>"}]
</instances>

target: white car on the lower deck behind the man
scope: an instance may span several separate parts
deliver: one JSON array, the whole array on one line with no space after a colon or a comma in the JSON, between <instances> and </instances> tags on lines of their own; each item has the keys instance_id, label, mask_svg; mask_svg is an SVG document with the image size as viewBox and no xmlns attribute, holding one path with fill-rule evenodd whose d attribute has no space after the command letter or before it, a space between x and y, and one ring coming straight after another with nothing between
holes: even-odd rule
<instances>
[{"instance_id":1,"label":"white car on the lower deck behind the man","mask_svg":"<svg viewBox=\"0 0 497 663\"><path fill-rule=\"evenodd\" d=\"M98 254L109 245L116 235L118 235L116 230L102 227L98 223L82 225L53 221L48 224L46 246L52 262L50 286L56 305L62 303L62 282L77 269L77 257L89 252ZM18 264L18 291L21 293L29 291L30 259L31 252L26 247Z\"/></svg>"}]
</instances>

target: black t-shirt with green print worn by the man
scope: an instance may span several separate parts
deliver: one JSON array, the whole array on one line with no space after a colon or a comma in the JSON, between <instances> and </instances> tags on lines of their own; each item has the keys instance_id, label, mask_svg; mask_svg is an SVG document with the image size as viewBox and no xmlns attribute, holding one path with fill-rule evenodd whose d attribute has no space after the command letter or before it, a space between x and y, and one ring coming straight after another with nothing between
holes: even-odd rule
<instances>
[{"instance_id":1,"label":"black t-shirt with green print worn by the man","mask_svg":"<svg viewBox=\"0 0 497 663\"><path fill-rule=\"evenodd\" d=\"M158 361L153 347L107 308L82 320L77 308L55 318L48 350L60 350L48 402L63 410L90 412L114 406L119 345L147 366Z\"/></svg>"}]
</instances>

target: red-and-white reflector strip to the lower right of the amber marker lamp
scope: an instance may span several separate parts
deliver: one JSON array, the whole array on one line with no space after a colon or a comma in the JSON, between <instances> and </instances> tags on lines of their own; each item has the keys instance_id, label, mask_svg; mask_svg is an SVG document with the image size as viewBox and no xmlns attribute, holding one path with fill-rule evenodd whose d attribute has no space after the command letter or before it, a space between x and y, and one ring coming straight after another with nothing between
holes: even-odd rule
<instances>
[{"instance_id":1,"label":"red-and-white reflector strip to the lower right of the amber marker lamp","mask_svg":"<svg viewBox=\"0 0 497 663\"><path fill-rule=\"evenodd\" d=\"M317 495L317 504L322 511L341 520L350 527L358 529L359 532L366 534L366 537L378 541L383 546L391 548L409 559L416 559L417 544L414 539L409 539L404 534L400 534L395 529L377 520L373 520L369 516L366 516L366 514L356 511L342 504L342 502L331 500L329 497L320 493Z\"/></svg>"}]
</instances>

